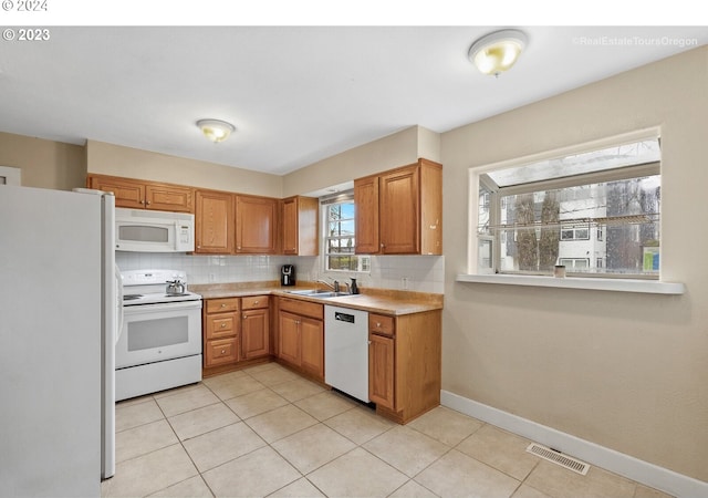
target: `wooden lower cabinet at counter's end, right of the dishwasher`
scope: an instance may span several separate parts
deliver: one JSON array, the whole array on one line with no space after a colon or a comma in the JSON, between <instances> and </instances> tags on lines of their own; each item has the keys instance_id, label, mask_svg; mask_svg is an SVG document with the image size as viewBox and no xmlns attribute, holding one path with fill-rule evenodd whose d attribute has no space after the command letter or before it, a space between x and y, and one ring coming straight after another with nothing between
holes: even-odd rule
<instances>
[{"instance_id":1,"label":"wooden lower cabinet at counter's end, right of the dishwasher","mask_svg":"<svg viewBox=\"0 0 708 498\"><path fill-rule=\"evenodd\" d=\"M441 388L441 311L368 320L368 396L399 424L437 407Z\"/></svg>"}]
</instances>

